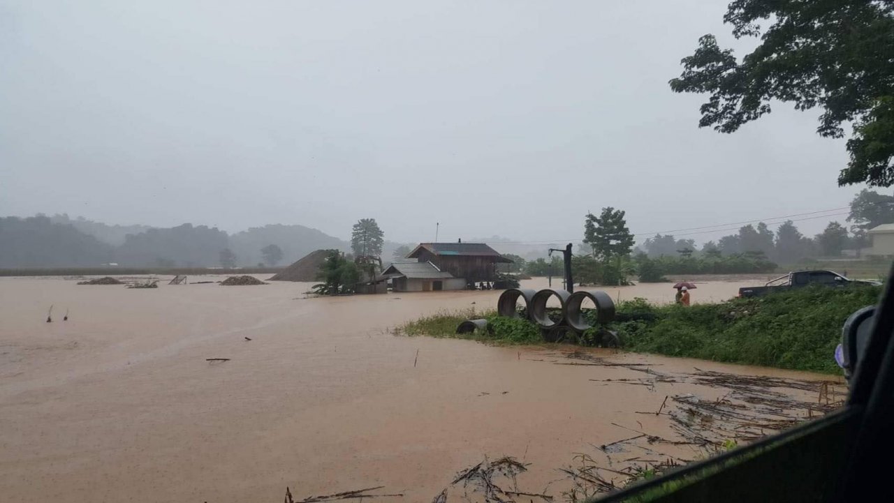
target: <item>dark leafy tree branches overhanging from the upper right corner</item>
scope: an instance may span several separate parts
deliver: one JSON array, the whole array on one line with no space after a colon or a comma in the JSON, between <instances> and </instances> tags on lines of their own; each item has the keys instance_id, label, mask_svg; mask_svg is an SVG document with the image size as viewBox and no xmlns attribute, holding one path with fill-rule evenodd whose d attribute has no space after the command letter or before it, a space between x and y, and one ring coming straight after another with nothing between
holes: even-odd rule
<instances>
[{"instance_id":1,"label":"dark leafy tree branches overhanging from the upper right corner","mask_svg":"<svg viewBox=\"0 0 894 503\"><path fill-rule=\"evenodd\" d=\"M705 35L683 58L671 89L710 95L700 127L736 131L770 113L772 101L820 107L821 136L841 138L841 124L854 124L839 185L894 183L894 2L733 0L723 21L736 38L760 43L739 61Z\"/></svg>"}]
</instances>

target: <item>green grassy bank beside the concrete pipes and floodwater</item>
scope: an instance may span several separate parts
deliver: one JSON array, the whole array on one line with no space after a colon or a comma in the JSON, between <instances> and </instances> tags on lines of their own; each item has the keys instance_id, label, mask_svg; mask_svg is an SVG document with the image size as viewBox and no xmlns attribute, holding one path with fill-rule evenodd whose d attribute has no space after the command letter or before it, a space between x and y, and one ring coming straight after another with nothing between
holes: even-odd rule
<instances>
[{"instance_id":1,"label":"green grassy bank beside the concrete pipes and floodwater","mask_svg":"<svg viewBox=\"0 0 894 503\"><path fill-rule=\"evenodd\" d=\"M880 294L881 287L872 286L815 287L689 307L654 306L637 298L617 306L618 321L610 328L628 351L840 373L833 353L842 324L860 307L875 304ZM472 318L487 318L493 332L455 333ZM397 332L507 344L544 341L532 323L473 310L420 318Z\"/></svg>"}]
</instances>

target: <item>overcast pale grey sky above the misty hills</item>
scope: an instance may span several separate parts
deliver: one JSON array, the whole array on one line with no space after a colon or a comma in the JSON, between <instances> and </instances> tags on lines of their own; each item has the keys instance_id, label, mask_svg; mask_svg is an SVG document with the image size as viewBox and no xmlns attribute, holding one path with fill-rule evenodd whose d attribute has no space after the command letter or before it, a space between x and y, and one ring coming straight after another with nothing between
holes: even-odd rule
<instances>
[{"instance_id":1,"label":"overcast pale grey sky above the misty hills","mask_svg":"<svg viewBox=\"0 0 894 503\"><path fill-rule=\"evenodd\" d=\"M721 135L668 87L727 3L0 0L0 214L532 241L848 205L818 111Z\"/></svg>"}]
</instances>

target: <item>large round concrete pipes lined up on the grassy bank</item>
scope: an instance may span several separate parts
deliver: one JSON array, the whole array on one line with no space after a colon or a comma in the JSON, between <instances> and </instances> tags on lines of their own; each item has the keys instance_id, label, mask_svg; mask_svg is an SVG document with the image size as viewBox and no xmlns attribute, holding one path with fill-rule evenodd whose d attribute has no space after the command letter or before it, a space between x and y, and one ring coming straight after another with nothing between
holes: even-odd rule
<instances>
[{"instance_id":1,"label":"large round concrete pipes lined up on the grassy bank","mask_svg":"<svg viewBox=\"0 0 894 503\"><path fill-rule=\"evenodd\" d=\"M550 318L549 310L546 307L550 298L559 299L561 306L561 319L556 321ZM540 330L543 331L544 340L549 342L557 342L565 340L569 335L578 335L594 327L592 323L584 317L581 305L584 300L589 298L596 306L596 324L604 325L611 322L615 315L614 302L611 297L603 291L576 291L569 293L564 289L542 289L540 291L534 289L507 289L502 292L500 299L497 301L497 314L510 318L524 318L530 322L536 323ZM519 299L524 302L524 310L519 312ZM461 323L457 328L457 333L467 333L475 330L486 330L486 320L469 320ZM606 332L608 332L606 330ZM609 343L618 342L616 334L603 338Z\"/></svg>"}]
</instances>

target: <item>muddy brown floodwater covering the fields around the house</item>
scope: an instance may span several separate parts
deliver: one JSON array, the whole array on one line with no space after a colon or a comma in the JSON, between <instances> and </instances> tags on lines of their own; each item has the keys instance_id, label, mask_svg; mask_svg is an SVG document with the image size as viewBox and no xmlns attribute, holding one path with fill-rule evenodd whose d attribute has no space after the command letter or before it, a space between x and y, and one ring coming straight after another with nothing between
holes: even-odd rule
<instances>
[{"instance_id":1,"label":"muddy brown floodwater covering the fields around the house","mask_svg":"<svg viewBox=\"0 0 894 503\"><path fill-rule=\"evenodd\" d=\"M815 381L828 379L389 332L445 308L493 307L497 291L304 298L307 283L75 283L0 279L7 501L281 501L286 486L296 500L375 486L404 494L380 501L431 501L448 487L454 500L463 491L450 485L460 470L503 456L529 464L519 486L559 497L570 482L558 469L573 465L575 453L628 465L650 451L702 456L697 441L645 440L722 438L686 424L710 403L752 403L755 391L723 387L723 378L711 379L724 374L711 373L805 381L799 389L768 384L779 410L790 400L816 402ZM699 284L693 299L730 298L742 285ZM667 283L609 292L660 302L674 293ZM54 322L45 323L50 305ZM668 399L662 415L637 414L657 411L666 396L679 401ZM786 414L820 413L808 408ZM649 437L612 444L637 432Z\"/></svg>"}]
</instances>

